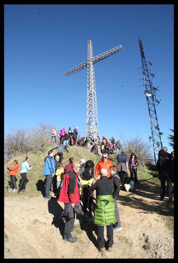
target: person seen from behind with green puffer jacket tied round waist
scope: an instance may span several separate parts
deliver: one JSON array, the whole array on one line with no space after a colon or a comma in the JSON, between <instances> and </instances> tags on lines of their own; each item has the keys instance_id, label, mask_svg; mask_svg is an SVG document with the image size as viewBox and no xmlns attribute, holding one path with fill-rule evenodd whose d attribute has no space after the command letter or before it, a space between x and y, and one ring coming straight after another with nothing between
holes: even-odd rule
<instances>
[{"instance_id":1,"label":"person seen from behind with green puffer jacket tied round waist","mask_svg":"<svg viewBox=\"0 0 178 263\"><path fill-rule=\"evenodd\" d=\"M107 250L111 251L114 244L112 224L116 223L116 215L112 196L113 187L114 183L107 178L106 169L101 169L100 181L96 181L90 187L91 191L96 190L96 208L93 222L97 224L97 243L101 252L105 251L104 226L107 227Z\"/></svg>"}]
</instances>

